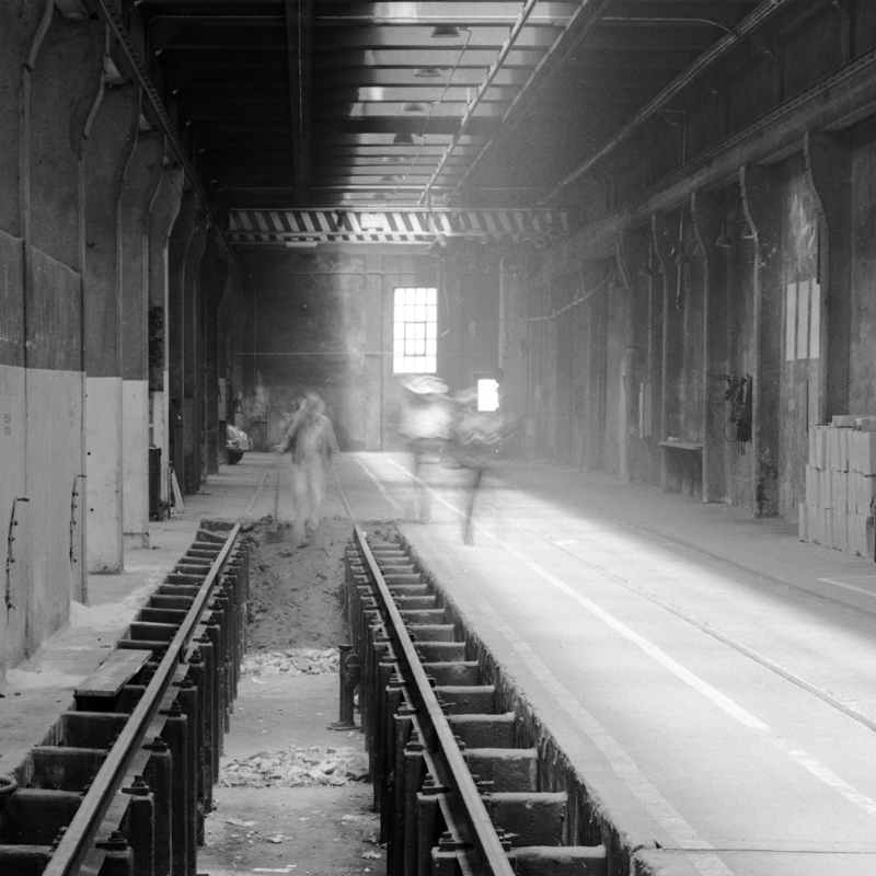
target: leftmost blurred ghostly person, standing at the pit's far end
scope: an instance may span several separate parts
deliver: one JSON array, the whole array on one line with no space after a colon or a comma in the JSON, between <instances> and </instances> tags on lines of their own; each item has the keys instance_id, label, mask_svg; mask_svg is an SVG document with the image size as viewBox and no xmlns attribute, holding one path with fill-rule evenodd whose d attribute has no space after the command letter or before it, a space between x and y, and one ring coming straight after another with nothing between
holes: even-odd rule
<instances>
[{"instance_id":1,"label":"leftmost blurred ghostly person, standing at the pit's far end","mask_svg":"<svg viewBox=\"0 0 876 876\"><path fill-rule=\"evenodd\" d=\"M339 452L332 420L325 416L325 402L309 392L292 415L283 442L275 450L289 452L292 466L292 498L295 528L301 543L320 526L325 477L334 473Z\"/></svg>"}]
</instances>

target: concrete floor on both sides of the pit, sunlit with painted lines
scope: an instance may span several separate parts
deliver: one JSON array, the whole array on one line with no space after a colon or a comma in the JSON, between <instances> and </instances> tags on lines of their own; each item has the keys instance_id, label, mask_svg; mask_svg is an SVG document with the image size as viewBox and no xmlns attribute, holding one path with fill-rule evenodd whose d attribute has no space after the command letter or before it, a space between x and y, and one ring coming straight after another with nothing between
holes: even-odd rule
<instances>
[{"instance_id":1,"label":"concrete floor on both sides of the pit, sunlit with painted lines","mask_svg":"<svg viewBox=\"0 0 876 876\"><path fill-rule=\"evenodd\" d=\"M39 741L201 518L273 512L272 462L222 466L154 525L152 551L126 554L129 572L90 579L92 606L9 673L0 771ZM343 498L333 486L324 514L412 519L404 466L344 454ZM876 565L726 506L510 461L487 479L466 546L458 477L430 468L431 522L404 532L643 848L643 873L876 873Z\"/></svg>"}]
</instances>

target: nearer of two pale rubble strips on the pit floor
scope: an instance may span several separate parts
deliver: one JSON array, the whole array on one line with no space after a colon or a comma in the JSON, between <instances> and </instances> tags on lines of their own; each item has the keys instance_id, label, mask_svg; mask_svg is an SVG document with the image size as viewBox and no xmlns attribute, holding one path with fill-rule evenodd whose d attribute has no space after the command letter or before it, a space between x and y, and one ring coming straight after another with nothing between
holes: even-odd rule
<instances>
[{"instance_id":1,"label":"nearer of two pale rubble strips on the pit floor","mask_svg":"<svg viewBox=\"0 0 876 876\"><path fill-rule=\"evenodd\" d=\"M224 787L298 787L346 785L367 779L368 758L354 748L289 746L223 763L219 784Z\"/></svg>"}]
</instances>

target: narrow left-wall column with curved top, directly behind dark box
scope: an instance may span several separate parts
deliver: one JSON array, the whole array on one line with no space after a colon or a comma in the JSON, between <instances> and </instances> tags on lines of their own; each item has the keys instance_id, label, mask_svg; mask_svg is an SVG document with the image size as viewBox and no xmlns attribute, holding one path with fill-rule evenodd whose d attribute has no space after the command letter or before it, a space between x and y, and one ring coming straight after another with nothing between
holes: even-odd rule
<instances>
[{"instance_id":1,"label":"narrow left-wall column with curved top, directly behind dark box","mask_svg":"<svg viewBox=\"0 0 876 876\"><path fill-rule=\"evenodd\" d=\"M161 507L170 503L169 378L168 378L168 261L170 235L180 212L183 172L164 168L149 208L149 406L150 445L161 450Z\"/></svg>"}]
</instances>

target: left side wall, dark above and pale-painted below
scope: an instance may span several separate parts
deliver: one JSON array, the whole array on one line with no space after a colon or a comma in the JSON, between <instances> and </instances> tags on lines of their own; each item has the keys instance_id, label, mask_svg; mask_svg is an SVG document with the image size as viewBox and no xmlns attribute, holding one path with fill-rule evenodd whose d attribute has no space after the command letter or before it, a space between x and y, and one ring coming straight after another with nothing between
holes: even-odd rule
<instances>
[{"instance_id":1,"label":"left side wall, dark above and pale-painted below","mask_svg":"<svg viewBox=\"0 0 876 876\"><path fill-rule=\"evenodd\" d=\"M168 445L147 324L157 303L166 326L181 172L135 88L107 87L107 47L96 20L0 4L0 678L88 601L89 568L148 546L149 443Z\"/></svg>"}]
</instances>

